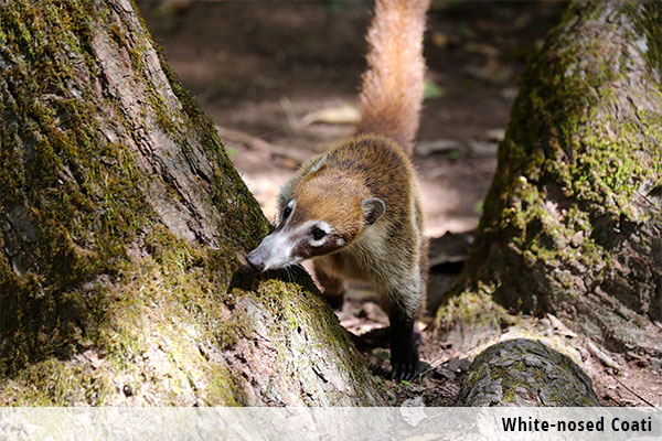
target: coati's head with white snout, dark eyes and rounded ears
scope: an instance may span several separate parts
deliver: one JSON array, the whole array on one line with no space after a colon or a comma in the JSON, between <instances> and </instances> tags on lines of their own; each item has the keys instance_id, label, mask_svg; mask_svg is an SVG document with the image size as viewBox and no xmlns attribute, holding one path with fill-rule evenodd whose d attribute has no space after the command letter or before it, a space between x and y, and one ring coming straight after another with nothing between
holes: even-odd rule
<instances>
[{"instance_id":1,"label":"coati's head with white snout, dark eyes and rounded ears","mask_svg":"<svg viewBox=\"0 0 662 441\"><path fill-rule=\"evenodd\" d=\"M246 260L258 271L284 268L351 245L384 214L384 202L365 197L363 183L343 175L312 173L284 201L280 223Z\"/></svg>"}]
</instances>

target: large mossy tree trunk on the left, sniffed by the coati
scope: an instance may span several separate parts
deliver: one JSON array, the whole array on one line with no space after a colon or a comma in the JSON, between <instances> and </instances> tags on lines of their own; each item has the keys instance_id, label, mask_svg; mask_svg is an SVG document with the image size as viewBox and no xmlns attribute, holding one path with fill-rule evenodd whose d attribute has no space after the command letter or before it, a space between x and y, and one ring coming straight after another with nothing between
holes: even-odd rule
<instances>
[{"instance_id":1,"label":"large mossy tree trunk on the left, sniffed by the coati","mask_svg":"<svg viewBox=\"0 0 662 441\"><path fill-rule=\"evenodd\" d=\"M0 405L381 402L128 0L0 2Z\"/></svg>"}]
</instances>

